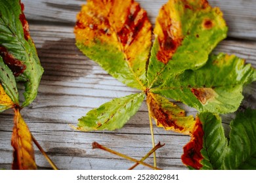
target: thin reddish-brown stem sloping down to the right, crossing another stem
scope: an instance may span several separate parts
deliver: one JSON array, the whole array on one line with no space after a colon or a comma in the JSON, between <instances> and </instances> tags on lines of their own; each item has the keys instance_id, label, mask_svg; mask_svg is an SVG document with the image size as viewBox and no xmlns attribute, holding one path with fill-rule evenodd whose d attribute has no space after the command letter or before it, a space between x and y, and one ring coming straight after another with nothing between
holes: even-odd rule
<instances>
[{"instance_id":1,"label":"thin reddish-brown stem sloping down to the right, crossing another stem","mask_svg":"<svg viewBox=\"0 0 256 183\"><path fill-rule=\"evenodd\" d=\"M111 150L110 148L106 148L105 146L102 146L102 145L98 144L98 142L93 142L93 148L100 148L100 149L106 150L107 152L110 152L112 154L116 154L117 156L120 156L121 158L125 158L125 159L128 159L130 161L134 161L135 163L139 163L141 165L144 165L146 167L150 167L151 169L161 170L158 167L153 167L152 165L149 165L148 163L144 163L142 161L138 161L137 159L134 159L134 158L131 158L129 156L126 156L125 154L121 154L119 152Z\"/></svg>"}]
</instances>

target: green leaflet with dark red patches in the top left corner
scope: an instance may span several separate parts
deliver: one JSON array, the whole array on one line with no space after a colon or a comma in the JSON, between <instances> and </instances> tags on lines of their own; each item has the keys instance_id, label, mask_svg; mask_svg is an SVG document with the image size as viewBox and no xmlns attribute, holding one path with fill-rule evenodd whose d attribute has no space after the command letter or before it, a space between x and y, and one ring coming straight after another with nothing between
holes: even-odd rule
<instances>
[{"instance_id":1,"label":"green leaflet with dark red patches in the top left corner","mask_svg":"<svg viewBox=\"0 0 256 183\"><path fill-rule=\"evenodd\" d=\"M43 74L35 45L28 32L28 22L19 0L0 1L0 53L3 61L15 76L23 75L25 101L22 107L32 103Z\"/></svg>"}]
</instances>

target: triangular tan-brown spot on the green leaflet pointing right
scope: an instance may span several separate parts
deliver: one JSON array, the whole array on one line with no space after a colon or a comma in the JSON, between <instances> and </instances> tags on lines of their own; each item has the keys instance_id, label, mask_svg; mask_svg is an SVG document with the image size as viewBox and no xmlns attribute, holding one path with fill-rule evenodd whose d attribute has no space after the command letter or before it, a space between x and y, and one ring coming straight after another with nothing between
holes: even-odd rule
<instances>
[{"instance_id":1,"label":"triangular tan-brown spot on the green leaflet pointing right","mask_svg":"<svg viewBox=\"0 0 256 183\"><path fill-rule=\"evenodd\" d=\"M198 98L198 100L204 105L215 97L215 92L212 88L191 88L191 92Z\"/></svg>"}]
</instances>

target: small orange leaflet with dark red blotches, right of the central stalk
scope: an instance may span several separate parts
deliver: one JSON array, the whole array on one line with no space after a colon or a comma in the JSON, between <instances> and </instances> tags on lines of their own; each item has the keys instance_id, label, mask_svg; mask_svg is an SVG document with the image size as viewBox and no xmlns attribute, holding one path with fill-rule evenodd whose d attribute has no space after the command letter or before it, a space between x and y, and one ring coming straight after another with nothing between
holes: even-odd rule
<instances>
[{"instance_id":1,"label":"small orange leaflet with dark red blotches, right of the central stalk","mask_svg":"<svg viewBox=\"0 0 256 183\"><path fill-rule=\"evenodd\" d=\"M146 101L158 127L184 134L192 132L194 117L186 116L185 111L177 105L154 93L148 93Z\"/></svg>"}]
</instances>

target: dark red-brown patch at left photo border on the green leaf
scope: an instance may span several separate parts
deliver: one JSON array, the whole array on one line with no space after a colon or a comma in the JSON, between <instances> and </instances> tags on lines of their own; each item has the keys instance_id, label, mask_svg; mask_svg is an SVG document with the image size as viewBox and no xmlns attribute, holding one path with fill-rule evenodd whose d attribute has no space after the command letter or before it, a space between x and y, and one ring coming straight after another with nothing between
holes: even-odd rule
<instances>
[{"instance_id":1,"label":"dark red-brown patch at left photo border on the green leaf","mask_svg":"<svg viewBox=\"0 0 256 183\"><path fill-rule=\"evenodd\" d=\"M15 59L3 46L0 46L0 56L3 58L5 64L11 69L14 76L19 76L26 70L26 65L22 63L22 61Z\"/></svg>"}]
</instances>

